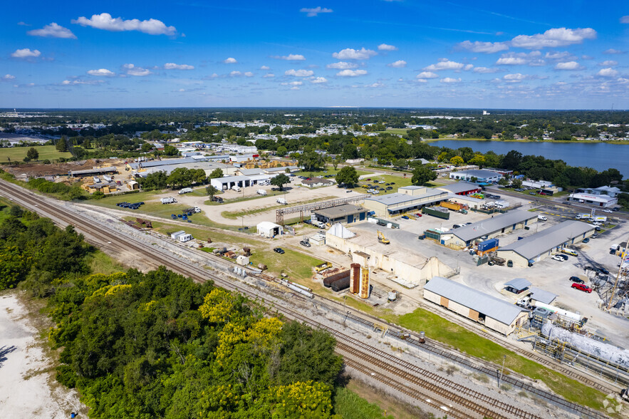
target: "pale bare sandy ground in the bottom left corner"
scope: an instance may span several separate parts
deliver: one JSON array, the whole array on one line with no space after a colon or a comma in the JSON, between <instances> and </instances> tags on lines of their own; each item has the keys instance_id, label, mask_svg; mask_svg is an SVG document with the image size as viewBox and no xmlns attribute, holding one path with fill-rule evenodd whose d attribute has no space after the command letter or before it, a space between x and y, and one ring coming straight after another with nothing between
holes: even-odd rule
<instances>
[{"instance_id":1,"label":"pale bare sandy ground in the bottom left corner","mask_svg":"<svg viewBox=\"0 0 629 419\"><path fill-rule=\"evenodd\" d=\"M78 393L56 383L52 361L38 342L28 311L14 293L0 296L0 412L2 418L87 417Z\"/></svg>"}]
</instances>

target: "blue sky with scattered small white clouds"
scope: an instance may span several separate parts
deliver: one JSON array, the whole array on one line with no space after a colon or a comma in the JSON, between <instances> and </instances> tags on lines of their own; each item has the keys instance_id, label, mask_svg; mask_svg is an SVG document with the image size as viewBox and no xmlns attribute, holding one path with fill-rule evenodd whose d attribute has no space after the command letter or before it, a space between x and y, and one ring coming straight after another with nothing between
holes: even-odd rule
<instances>
[{"instance_id":1,"label":"blue sky with scattered small white clouds","mask_svg":"<svg viewBox=\"0 0 629 419\"><path fill-rule=\"evenodd\" d=\"M0 39L3 108L629 108L627 1L13 1Z\"/></svg>"}]
</instances>

